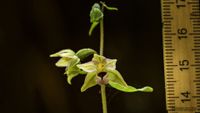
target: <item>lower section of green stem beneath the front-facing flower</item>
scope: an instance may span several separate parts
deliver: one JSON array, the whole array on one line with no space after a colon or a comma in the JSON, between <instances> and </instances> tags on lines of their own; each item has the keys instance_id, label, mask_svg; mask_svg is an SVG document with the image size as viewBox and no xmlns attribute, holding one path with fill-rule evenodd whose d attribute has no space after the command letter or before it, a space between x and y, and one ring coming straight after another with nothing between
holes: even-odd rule
<instances>
[{"instance_id":1,"label":"lower section of green stem beneath the front-facing flower","mask_svg":"<svg viewBox=\"0 0 200 113\"><path fill-rule=\"evenodd\" d=\"M102 99L103 113L107 113L106 86L105 85L101 85L101 99Z\"/></svg>"}]
</instances>

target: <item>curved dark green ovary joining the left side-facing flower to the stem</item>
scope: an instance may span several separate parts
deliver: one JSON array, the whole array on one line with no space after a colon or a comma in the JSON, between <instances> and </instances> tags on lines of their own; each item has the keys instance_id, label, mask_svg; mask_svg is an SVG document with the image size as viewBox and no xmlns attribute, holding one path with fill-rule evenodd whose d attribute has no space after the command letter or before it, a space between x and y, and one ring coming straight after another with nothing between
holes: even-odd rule
<instances>
[{"instance_id":1,"label":"curved dark green ovary joining the left side-facing flower to the stem","mask_svg":"<svg viewBox=\"0 0 200 113\"><path fill-rule=\"evenodd\" d=\"M84 48L79 50L75 55L80 58L80 60L84 60L89 55L95 54L96 51L90 48Z\"/></svg>"}]
</instances>

